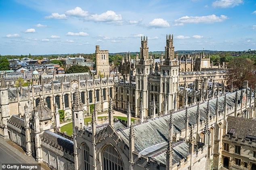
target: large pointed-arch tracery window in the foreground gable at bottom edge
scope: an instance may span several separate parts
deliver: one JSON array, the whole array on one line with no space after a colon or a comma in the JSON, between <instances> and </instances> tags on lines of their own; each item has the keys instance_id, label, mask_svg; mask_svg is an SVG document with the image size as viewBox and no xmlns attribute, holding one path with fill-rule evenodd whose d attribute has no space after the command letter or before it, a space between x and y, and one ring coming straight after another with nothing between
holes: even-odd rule
<instances>
[{"instance_id":1,"label":"large pointed-arch tracery window in the foreground gable at bottom edge","mask_svg":"<svg viewBox=\"0 0 256 170\"><path fill-rule=\"evenodd\" d=\"M103 152L103 170L124 170L123 161L113 146L108 146Z\"/></svg>"}]
</instances>

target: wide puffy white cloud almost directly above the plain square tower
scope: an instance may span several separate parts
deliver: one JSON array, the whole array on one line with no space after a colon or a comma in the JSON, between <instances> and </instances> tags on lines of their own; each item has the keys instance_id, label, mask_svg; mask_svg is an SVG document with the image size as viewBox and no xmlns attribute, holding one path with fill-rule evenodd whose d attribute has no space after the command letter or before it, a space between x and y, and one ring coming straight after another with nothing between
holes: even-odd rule
<instances>
[{"instance_id":1,"label":"wide puffy white cloud almost directly above the plain square tower","mask_svg":"<svg viewBox=\"0 0 256 170\"><path fill-rule=\"evenodd\" d=\"M89 19L96 22L113 22L122 20L122 16L121 14L116 14L112 10L108 10L102 14L92 14Z\"/></svg>"}]
</instances>

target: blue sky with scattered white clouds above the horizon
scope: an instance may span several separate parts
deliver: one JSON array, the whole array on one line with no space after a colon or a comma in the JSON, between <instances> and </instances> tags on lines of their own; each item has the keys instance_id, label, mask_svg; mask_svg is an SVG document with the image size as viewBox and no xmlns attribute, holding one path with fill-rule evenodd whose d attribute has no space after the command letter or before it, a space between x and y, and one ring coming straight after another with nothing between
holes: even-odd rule
<instances>
[{"instance_id":1,"label":"blue sky with scattered white clouds above the horizon","mask_svg":"<svg viewBox=\"0 0 256 170\"><path fill-rule=\"evenodd\" d=\"M0 0L0 54L256 49L256 0Z\"/></svg>"}]
</instances>

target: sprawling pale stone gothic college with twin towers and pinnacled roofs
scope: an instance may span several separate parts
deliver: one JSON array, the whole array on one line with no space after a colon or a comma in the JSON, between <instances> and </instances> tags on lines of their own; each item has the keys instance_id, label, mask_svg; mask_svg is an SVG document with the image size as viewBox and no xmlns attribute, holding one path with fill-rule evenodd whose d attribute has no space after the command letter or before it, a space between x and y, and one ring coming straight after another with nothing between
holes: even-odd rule
<instances>
[{"instance_id":1,"label":"sprawling pale stone gothic college with twin towers and pinnacled roofs","mask_svg":"<svg viewBox=\"0 0 256 170\"><path fill-rule=\"evenodd\" d=\"M100 53L103 62L108 52ZM149 54L147 37L141 37L140 54L129 66L134 72L122 76L38 77L35 72L33 84L17 88L6 87L1 78L0 135L58 170L253 169L254 131L239 129L235 121L256 125L256 90L245 82L233 92L203 76L193 83L185 79L180 86L177 57L172 35L159 62ZM59 109L72 119L70 138L59 133ZM127 114L125 124L114 122L114 109ZM98 124L103 111L108 111L109 122ZM91 125L84 125L85 115L92 117ZM139 120L132 122L131 116Z\"/></svg>"}]
</instances>

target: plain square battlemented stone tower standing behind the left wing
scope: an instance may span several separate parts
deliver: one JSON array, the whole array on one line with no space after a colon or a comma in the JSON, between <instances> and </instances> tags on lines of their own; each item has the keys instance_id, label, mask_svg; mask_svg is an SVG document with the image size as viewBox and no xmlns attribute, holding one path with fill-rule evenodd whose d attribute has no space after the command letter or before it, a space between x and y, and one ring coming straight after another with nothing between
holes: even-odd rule
<instances>
[{"instance_id":1,"label":"plain square battlemented stone tower standing behind the left wing","mask_svg":"<svg viewBox=\"0 0 256 170\"><path fill-rule=\"evenodd\" d=\"M96 45L96 73L99 75L109 75L109 50L100 50L100 46Z\"/></svg>"}]
</instances>

